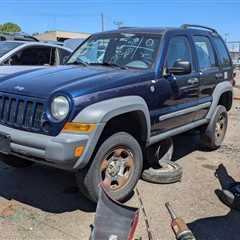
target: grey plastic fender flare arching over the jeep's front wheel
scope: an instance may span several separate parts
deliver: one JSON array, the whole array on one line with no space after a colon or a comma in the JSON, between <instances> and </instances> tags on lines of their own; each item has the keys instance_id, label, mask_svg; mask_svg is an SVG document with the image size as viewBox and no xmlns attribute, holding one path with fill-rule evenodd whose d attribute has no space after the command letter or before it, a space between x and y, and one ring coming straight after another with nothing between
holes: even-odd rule
<instances>
[{"instance_id":1,"label":"grey plastic fender flare arching over the jeep's front wheel","mask_svg":"<svg viewBox=\"0 0 240 240\"><path fill-rule=\"evenodd\" d=\"M150 141L151 121L148 106L140 96L125 96L104 100L94 103L84 108L74 119L73 122L93 123L97 125L96 130L89 134L89 141L86 151L74 165L74 169L83 168L89 162L93 151L98 143L102 131L109 120L124 113L141 111L146 120L147 139Z\"/></svg>"}]
</instances>

